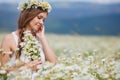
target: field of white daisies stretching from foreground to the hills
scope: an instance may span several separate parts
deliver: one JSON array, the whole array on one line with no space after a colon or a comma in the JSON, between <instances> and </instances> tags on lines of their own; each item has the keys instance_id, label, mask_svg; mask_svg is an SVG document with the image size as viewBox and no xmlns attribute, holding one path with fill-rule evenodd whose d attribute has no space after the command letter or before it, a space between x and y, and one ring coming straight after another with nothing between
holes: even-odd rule
<instances>
[{"instance_id":1,"label":"field of white daisies stretching from foreground to the hills","mask_svg":"<svg viewBox=\"0 0 120 80\"><path fill-rule=\"evenodd\" d=\"M46 62L34 80L120 80L119 36L47 34L47 38L58 62ZM31 74L21 68L7 76L8 80L31 80Z\"/></svg>"}]
</instances>

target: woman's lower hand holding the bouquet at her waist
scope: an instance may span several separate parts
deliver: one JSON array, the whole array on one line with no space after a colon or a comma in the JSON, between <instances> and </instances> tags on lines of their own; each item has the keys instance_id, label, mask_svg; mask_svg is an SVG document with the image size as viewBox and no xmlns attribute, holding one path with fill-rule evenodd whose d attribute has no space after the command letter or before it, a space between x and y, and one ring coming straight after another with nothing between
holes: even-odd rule
<instances>
[{"instance_id":1,"label":"woman's lower hand holding the bouquet at her waist","mask_svg":"<svg viewBox=\"0 0 120 80\"><path fill-rule=\"evenodd\" d=\"M37 66L41 65L41 64L42 64L42 61L41 61L41 59L39 59L39 60L30 61L30 62L26 63L25 66L32 70L37 70L38 69Z\"/></svg>"}]
</instances>

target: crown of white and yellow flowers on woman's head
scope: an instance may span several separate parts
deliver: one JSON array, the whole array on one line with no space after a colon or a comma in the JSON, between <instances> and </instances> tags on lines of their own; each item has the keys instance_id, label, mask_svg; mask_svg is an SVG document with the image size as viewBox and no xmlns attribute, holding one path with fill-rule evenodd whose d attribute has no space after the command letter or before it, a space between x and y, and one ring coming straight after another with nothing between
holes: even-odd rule
<instances>
[{"instance_id":1,"label":"crown of white and yellow flowers on woman's head","mask_svg":"<svg viewBox=\"0 0 120 80\"><path fill-rule=\"evenodd\" d=\"M38 7L41 7L43 10L47 10L47 12L50 12L52 9L51 5L43 0L42 2L39 2L38 0L27 0L27 2L19 4L18 9L23 11L25 9Z\"/></svg>"}]
</instances>

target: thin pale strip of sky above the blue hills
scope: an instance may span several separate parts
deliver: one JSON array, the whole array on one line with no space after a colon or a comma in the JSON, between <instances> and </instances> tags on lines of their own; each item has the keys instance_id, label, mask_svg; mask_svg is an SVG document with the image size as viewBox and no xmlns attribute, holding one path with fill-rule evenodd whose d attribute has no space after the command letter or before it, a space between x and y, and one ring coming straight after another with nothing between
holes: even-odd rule
<instances>
[{"instance_id":1,"label":"thin pale strip of sky above the blue hills","mask_svg":"<svg viewBox=\"0 0 120 80\"><path fill-rule=\"evenodd\" d=\"M19 3L24 2L26 0L0 0L0 3ZM42 1L42 0L39 0ZM109 4L109 3L120 3L120 0L44 0L48 2L92 2L92 3L101 3L101 4Z\"/></svg>"}]
</instances>

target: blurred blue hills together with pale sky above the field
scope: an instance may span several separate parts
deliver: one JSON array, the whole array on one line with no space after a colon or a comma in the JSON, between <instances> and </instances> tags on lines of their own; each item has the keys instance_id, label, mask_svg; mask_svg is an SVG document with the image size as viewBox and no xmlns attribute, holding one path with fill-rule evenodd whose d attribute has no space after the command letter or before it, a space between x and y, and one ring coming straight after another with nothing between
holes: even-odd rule
<instances>
[{"instance_id":1,"label":"blurred blue hills together with pale sky above the field","mask_svg":"<svg viewBox=\"0 0 120 80\"><path fill-rule=\"evenodd\" d=\"M45 0L52 11L45 21L47 33L78 35L120 35L120 0ZM0 32L17 28L19 3L0 0Z\"/></svg>"}]
</instances>

